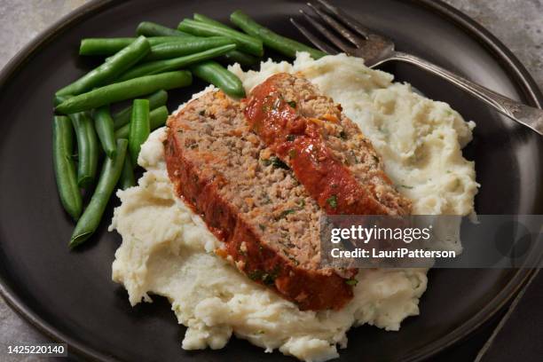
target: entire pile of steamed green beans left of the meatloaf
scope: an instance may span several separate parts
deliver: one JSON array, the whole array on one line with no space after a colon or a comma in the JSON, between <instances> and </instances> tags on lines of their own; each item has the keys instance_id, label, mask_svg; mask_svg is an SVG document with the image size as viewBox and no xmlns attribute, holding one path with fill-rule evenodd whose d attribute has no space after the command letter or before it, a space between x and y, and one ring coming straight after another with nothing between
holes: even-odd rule
<instances>
[{"instance_id":1,"label":"entire pile of steamed green beans left of the meatloaf","mask_svg":"<svg viewBox=\"0 0 543 362\"><path fill-rule=\"evenodd\" d=\"M81 40L79 54L102 63L55 92L52 122L59 200L76 223L70 248L91 238L116 189L136 185L141 146L168 119L168 91L191 85L194 76L244 98L240 79L224 65L255 66L267 49L290 58L296 51L326 55L243 12L230 19L233 26L195 13L177 28L143 21L135 36Z\"/></svg>"}]
</instances>

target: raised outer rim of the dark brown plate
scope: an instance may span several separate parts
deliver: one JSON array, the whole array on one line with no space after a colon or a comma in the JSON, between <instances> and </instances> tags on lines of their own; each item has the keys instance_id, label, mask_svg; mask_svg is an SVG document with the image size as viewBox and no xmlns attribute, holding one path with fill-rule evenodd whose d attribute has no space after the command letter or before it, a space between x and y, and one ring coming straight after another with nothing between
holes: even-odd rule
<instances>
[{"instance_id":1,"label":"raised outer rim of the dark brown plate","mask_svg":"<svg viewBox=\"0 0 543 362\"><path fill-rule=\"evenodd\" d=\"M484 28L482 25L470 18L467 14L455 9L452 5L446 4L443 0L408 0L409 3L415 4L436 13L445 20L453 22L454 25L467 32L468 36L483 43L488 51L492 53L492 57L498 59L502 67L507 68L512 80L517 84L518 89L522 89L523 96L529 100L531 106L543 108L543 93L539 89L539 85L535 82L528 70L523 66L515 54L508 49L495 35ZM122 4L126 0L91 0L87 4L75 9L73 12L67 13L50 27L44 29L38 35L28 42L10 59L0 71L0 91L4 86L11 82L12 77L16 75L26 65L29 59L32 59L36 53L41 51L43 47L55 40L55 38L67 31L75 25L78 20L91 17L94 14L102 11L106 7ZM466 320L459 327L456 327L452 333L446 334L444 337L437 339L428 345L415 350L414 353L405 358L405 361L421 361L426 358L435 356L438 352L451 347L453 344L460 342L469 334L472 334L478 327L500 311L514 295L524 286L526 281L535 272L535 269L519 269L512 279L508 281L506 287L500 290L500 293L494 295L491 303L488 303L484 309L478 311L471 319ZM20 317L26 319L33 327L42 334L48 336L53 341L67 343L69 350L81 355L83 358L91 358L99 361L120 361L121 359L113 358L106 355L104 352L89 347L88 345L74 340L72 337L63 334L56 327L44 321L35 311L32 311L20 299L12 288L9 286L4 275L0 274L0 295L4 297L4 301L13 311Z\"/></svg>"}]
</instances>

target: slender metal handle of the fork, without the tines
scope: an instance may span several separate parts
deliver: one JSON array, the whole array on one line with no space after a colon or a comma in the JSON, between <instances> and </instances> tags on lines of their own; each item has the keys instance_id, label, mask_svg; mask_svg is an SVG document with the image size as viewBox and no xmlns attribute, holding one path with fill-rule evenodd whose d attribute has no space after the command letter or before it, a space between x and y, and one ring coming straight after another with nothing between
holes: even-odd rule
<instances>
[{"instance_id":1,"label":"slender metal handle of the fork, without the tines","mask_svg":"<svg viewBox=\"0 0 543 362\"><path fill-rule=\"evenodd\" d=\"M439 75L460 89L468 91L468 93L476 98L481 99L487 105L493 106L501 114L505 114L515 122L530 127L531 130L535 130L539 135L543 136L543 110L539 108L523 105L516 100L505 97L495 91L491 91L480 84L468 81L466 78L455 75L442 67L437 67L428 60L421 59L412 54L395 51L393 56L390 57L390 60L404 61L413 64L414 66L421 67L434 75Z\"/></svg>"}]
</instances>

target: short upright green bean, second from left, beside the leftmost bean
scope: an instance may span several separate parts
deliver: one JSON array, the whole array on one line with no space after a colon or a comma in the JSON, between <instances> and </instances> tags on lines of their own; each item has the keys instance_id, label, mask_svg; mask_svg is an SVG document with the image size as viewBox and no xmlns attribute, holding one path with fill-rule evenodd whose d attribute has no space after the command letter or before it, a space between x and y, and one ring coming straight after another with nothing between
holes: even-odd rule
<instances>
[{"instance_id":1,"label":"short upright green bean, second from left, beside the leftmost bean","mask_svg":"<svg viewBox=\"0 0 543 362\"><path fill-rule=\"evenodd\" d=\"M91 117L86 112L69 114L77 137L77 184L89 188L98 169L98 139Z\"/></svg>"}]
</instances>

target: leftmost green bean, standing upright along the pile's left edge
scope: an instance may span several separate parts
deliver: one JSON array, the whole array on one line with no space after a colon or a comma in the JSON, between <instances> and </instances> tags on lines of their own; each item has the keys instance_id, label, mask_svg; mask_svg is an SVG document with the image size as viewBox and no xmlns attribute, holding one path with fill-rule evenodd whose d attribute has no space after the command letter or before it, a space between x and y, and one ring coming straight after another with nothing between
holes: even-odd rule
<instances>
[{"instance_id":1,"label":"leftmost green bean, standing upright along the pile's left edge","mask_svg":"<svg viewBox=\"0 0 543 362\"><path fill-rule=\"evenodd\" d=\"M53 117L53 167L62 206L77 221L83 209L81 192L77 185L75 164L72 160L74 130L65 115Z\"/></svg>"}]
</instances>

